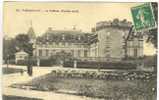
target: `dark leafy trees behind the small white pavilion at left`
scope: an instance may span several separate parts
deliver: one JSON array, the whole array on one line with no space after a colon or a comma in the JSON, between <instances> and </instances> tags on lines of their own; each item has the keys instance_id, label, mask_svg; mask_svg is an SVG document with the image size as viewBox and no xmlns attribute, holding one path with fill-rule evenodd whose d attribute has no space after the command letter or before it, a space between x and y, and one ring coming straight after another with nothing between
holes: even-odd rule
<instances>
[{"instance_id":1,"label":"dark leafy trees behind the small white pavilion at left","mask_svg":"<svg viewBox=\"0 0 159 100\"><path fill-rule=\"evenodd\" d=\"M3 59L14 59L15 53L24 50L32 55L32 43L26 34L18 34L15 38L3 38Z\"/></svg>"}]
</instances>

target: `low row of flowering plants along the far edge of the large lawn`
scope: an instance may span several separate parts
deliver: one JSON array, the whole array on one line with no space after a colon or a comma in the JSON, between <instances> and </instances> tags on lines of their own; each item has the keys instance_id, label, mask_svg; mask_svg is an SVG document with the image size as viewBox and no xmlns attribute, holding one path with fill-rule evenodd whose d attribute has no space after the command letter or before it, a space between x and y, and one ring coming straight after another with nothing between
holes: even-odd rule
<instances>
[{"instance_id":1,"label":"low row of flowering plants along the far edge of the large lawn","mask_svg":"<svg viewBox=\"0 0 159 100\"><path fill-rule=\"evenodd\" d=\"M53 70L51 76L60 78L91 78L107 80L150 80L157 76L153 72L144 71L91 71L91 70Z\"/></svg>"}]
</instances>

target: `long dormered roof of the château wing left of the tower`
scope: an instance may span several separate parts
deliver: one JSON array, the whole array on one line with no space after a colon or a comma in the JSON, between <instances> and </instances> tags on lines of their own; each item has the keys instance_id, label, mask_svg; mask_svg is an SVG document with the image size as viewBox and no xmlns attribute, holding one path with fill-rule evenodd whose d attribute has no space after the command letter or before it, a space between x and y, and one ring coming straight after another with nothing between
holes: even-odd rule
<instances>
[{"instance_id":1,"label":"long dormered roof of the ch\u00e2teau wing left of the tower","mask_svg":"<svg viewBox=\"0 0 159 100\"><path fill-rule=\"evenodd\" d=\"M78 30L52 30L49 28L45 34L37 38L36 42L89 43L90 37L92 37L92 33L84 33Z\"/></svg>"}]
</instances>

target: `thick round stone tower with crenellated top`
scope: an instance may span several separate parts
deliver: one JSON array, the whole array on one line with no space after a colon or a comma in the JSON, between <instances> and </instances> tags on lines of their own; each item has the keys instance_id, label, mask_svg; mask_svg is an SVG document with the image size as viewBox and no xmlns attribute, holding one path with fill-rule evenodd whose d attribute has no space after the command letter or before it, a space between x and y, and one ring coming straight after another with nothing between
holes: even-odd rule
<instances>
[{"instance_id":1,"label":"thick round stone tower with crenellated top","mask_svg":"<svg viewBox=\"0 0 159 100\"><path fill-rule=\"evenodd\" d=\"M98 57L117 58L125 57L125 38L129 34L131 23L127 21L101 21L93 29L98 35Z\"/></svg>"}]
</instances>

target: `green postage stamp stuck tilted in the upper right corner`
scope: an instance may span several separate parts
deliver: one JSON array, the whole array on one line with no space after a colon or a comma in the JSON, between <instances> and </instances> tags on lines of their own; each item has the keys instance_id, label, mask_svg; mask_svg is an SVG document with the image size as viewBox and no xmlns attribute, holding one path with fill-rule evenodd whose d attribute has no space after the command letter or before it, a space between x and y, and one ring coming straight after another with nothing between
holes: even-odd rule
<instances>
[{"instance_id":1,"label":"green postage stamp stuck tilted in the upper right corner","mask_svg":"<svg viewBox=\"0 0 159 100\"><path fill-rule=\"evenodd\" d=\"M156 28L156 22L151 3L145 3L136 7L132 7L131 13L136 31Z\"/></svg>"}]
</instances>

